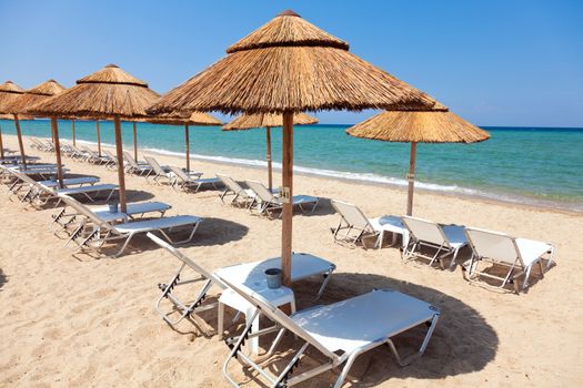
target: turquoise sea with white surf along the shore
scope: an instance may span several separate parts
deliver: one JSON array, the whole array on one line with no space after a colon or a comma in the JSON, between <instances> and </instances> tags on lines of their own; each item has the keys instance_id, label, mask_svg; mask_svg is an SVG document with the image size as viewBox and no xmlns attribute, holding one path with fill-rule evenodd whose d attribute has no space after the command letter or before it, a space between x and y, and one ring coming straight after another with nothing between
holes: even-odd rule
<instances>
[{"instance_id":1,"label":"turquoise sea with white surf along the shore","mask_svg":"<svg viewBox=\"0 0 583 388\"><path fill-rule=\"evenodd\" d=\"M2 133L14 133L0 121ZM22 121L24 135L50 137L46 120ZM349 125L294 129L298 172L376 184L405 185L410 145L355 139ZM484 127L491 139L476 144L419 144L415 187L583 212L583 129ZM76 122L77 139L96 142L94 122ZM132 124L123 123L124 147ZM61 139L71 139L70 121L60 121ZM193 157L265 165L265 131L222 132L191 126ZM101 122L101 140L113 144L113 124ZM138 123L142 149L183 156L181 126ZM274 166L281 161L281 130L272 130Z\"/></svg>"}]
</instances>

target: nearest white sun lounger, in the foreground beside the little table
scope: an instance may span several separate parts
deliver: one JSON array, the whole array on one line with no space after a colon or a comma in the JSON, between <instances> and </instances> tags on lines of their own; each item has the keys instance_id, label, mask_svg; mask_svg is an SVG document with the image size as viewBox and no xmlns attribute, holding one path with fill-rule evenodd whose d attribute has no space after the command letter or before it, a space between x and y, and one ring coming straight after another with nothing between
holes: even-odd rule
<instances>
[{"instance_id":1,"label":"nearest white sun lounger, in the foreground beside the little table","mask_svg":"<svg viewBox=\"0 0 583 388\"><path fill-rule=\"evenodd\" d=\"M239 384L228 370L233 358L240 360L244 367L259 372L259 376L267 379L271 387L291 387L343 366L334 384L334 387L339 388L358 356L385 344L389 345L401 366L409 365L425 351L440 316L439 309L430 304L389 289L373 290L329 306L313 307L287 316L260 294L253 292L249 284L238 284L224 276L219 277L229 288L258 308L255 315L261 313L277 324L269 330L254 333L251 333L252 325L248 324L239 337L228 339L232 350L223 364L223 374L234 387L239 387ZM419 350L401 358L392 337L422 324L428 324L429 328ZM275 376L271 368L262 367L259 363L253 361L243 351L242 346L250 338L278 329L279 333L267 353L268 357L272 355L287 330L302 340L303 345ZM302 355L310 346L322 354L326 363L308 370L295 370L302 361ZM281 361L281 357L278 357L278 360Z\"/></svg>"}]
</instances>

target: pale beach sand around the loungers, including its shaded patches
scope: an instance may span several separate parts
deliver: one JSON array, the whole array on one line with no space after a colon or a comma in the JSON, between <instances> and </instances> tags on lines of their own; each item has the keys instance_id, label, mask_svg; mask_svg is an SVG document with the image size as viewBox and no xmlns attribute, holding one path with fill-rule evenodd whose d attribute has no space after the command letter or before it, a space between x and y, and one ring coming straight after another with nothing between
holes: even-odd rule
<instances>
[{"instance_id":1,"label":"pale beach sand around the loungers, including its shaded patches","mask_svg":"<svg viewBox=\"0 0 583 388\"><path fill-rule=\"evenodd\" d=\"M4 142L17 149L13 136ZM53 155L41 156L54 161ZM117 174L104 167L64 163L76 173L117 182ZM265 181L267 175L200 161L193 165L211 176L223 172L237 180ZM134 176L127 184L131 201L159 200L173 206L170 214L205 217L194 242L181 251L208 269L279 255L280 221L223 205L214 191L179 193ZM310 176L296 176L294 184L296 193L352 202L371 217L401 214L405 207L401 190ZM24 208L6 195L0 206L1 386L228 386L221 374L228 348L215 335L215 313L171 328L154 312L157 284L168 282L178 267L169 254L141 237L130 254L117 259L74 257L48 229L54 210ZM401 368L386 348L378 348L358 359L345 386L583 386L583 216L428 193L415 196L414 211L438 222L552 242L557 266L526 294L500 294L470 285L459 268L450 273L405 265L395 248L334 244L329 228L339 216L326 202L312 215L298 215L294 249L338 266L323 303L391 287L442 312L421 359ZM310 305L314 287L315 282L296 285L300 307ZM398 344L406 348L420 338L408 336ZM289 338L283 348L292 344ZM231 370L244 386L258 386L237 363ZM336 374L303 386L329 385Z\"/></svg>"}]
</instances>

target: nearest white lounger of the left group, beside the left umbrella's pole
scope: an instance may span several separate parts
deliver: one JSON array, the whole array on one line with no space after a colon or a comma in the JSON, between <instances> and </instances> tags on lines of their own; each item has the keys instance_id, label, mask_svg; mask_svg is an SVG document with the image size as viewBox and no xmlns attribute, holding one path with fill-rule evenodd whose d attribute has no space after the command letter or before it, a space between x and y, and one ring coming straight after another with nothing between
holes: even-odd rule
<instances>
[{"instance_id":1,"label":"nearest white lounger of the left group, beside the left umbrella's pole","mask_svg":"<svg viewBox=\"0 0 583 388\"><path fill-rule=\"evenodd\" d=\"M67 244L70 242L77 244L76 252L86 249L100 251L104 243L122 241L122 247L113 255L113 257L118 257L125 251L125 247L135 235L145 234L149 232L159 232L164 236L164 238L173 244L185 244L192 241L197 228L202 222L201 217L192 215L175 215L163 218L132 221L124 224L114 224L111 222L105 222L69 196L61 195L61 197L68 206L74 208L77 212L83 215L88 223L91 224L91 229L89 232L86 229L84 225L80 225L78 229L71 234L71 237L67 242ZM170 233L173 228L185 226L191 227L191 232L189 236L182 241L174 242L164 232L168 231Z\"/></svg>"}]
</instances>

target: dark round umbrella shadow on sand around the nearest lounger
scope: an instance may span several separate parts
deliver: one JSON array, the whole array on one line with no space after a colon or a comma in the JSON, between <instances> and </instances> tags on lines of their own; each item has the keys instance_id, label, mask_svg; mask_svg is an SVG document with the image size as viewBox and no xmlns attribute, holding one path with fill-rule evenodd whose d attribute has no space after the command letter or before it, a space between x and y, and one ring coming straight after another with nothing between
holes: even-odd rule
<instances>
[{"instance_id":1,"label":"dark round umbrella shadow on sand around the nearest lounger","mask_svg":"<svg viewBox=\"0 0 583 388\"><path fill-rule=\"evenodd\" d=\"M315 283L306 280L304 286L294 287L299 306L313 304ZM395 289L425 300L440 308L441 317L425 354L406 367L399 367L386 347L361 355L349 374L349 380L358 381L359 387L376 386L394 377L441 379L470 374L484 369L494 359L499 346L495 329L473 307L438 289L375 274L342 273L332 275L321 302L331 304L368 293L372 288ZM401 355L416 351L424 333L424 327L418 327L395 336L394 344ZM288 340L293 347L292 338ZM316 359L321 357L318 353L313 356ZM338 375L321 377L332 384Z\"/></svg>"}]
</instances>

